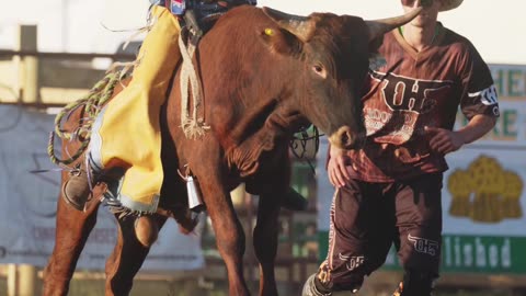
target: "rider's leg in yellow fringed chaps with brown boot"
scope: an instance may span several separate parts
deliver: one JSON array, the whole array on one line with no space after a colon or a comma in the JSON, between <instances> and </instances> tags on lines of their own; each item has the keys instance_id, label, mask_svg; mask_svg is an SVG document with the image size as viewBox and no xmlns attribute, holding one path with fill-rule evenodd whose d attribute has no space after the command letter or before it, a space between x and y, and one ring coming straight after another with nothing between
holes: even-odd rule
<instances>
[{"instance_id":1,"label":"rider's leg in yellow fringed chaps with brown boot","mask_svg":"<svg viewBox=\"0 0 526 296\"><path fill-rule=\"evenodd\" d=\"M126 169L118 189L125 196L133 196L128 205L137 205L141 212L155 212L159 198L163 180L160 109L180 60L176 18L159 5L151 13L155 23L142 43L132 80L96 117L87 153L90 169L96 173L116 167ZM79 209L90 192L87 169L82 171L64 186L65 198Z\"/></svg>"}]
</instances>

